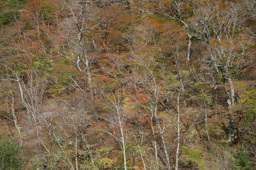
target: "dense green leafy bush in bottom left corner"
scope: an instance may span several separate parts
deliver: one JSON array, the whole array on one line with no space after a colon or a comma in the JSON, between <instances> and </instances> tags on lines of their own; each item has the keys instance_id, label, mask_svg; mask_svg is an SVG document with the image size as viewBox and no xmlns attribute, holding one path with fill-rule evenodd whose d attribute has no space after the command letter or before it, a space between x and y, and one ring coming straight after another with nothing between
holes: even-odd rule
<instances>
[{"instance_id":1,"label":"dense green leafy bush in bottom left corner","mask_svg":"<svg viewBox=\"0 0 256 170\"><path fill-rule=\"evenodd\" d=\"M15 155L20 152L20 146L14 143L12 139L6 137L0 138L0 166L4 170L18 170L23 163Z\"/></svg>"}]
</instances>

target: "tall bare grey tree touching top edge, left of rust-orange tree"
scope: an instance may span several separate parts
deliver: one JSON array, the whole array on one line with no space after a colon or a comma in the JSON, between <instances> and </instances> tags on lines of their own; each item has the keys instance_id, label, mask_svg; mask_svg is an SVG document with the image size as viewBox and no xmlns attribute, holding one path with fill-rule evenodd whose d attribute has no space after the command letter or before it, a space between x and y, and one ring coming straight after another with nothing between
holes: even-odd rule
<instances>
[{"instance_id":1,"label":"tall bare grey tree touching top edge, left of rust-orange tree","mask_svg":"<svg viewBox=\"0 0 256 170\"><path fill-rule=\"evenodd\" d=\"M65 45L68 46L62 55L74 62L82 74L87 75L87 89L90 91L91 104L94 109L93 84L90 72L90 64L94 61L94 58L90 59L87 54L89 43L87 43L86 39L86 33L91 33L93 30L93 27L90 27L89 20L94 2L91 0L69 0L61 1L61 4L65 19L60 22L63 27L60 35L65 39ZM73 82L78 87L76 81ZM80 87L79 90L84 91ZM96 118L96 111L93 110L93 112Z\"/></svg>"}]
</instances>

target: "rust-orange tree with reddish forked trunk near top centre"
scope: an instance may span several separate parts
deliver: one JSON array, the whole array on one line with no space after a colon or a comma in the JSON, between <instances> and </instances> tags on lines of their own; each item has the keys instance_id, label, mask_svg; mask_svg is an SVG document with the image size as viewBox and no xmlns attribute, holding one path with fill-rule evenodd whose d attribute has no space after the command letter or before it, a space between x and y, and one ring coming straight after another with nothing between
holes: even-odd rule
<instances>
[{"instance_id":1,"label":"rust-orange tree with reddish forked trunk near top centre","mask_svg":"<svg viewBox=\"0 0 256 170\"><path fill-rule=\"evenodd\" d=\"M91 37L95 48L99 47L107 54L120 53L123 50L124 40L121 33L128 28L128 23L124 20L129 22L124 9L118 4L113 4L95 10L92 20L96 26Z\"/></svg>"}]
</instances>

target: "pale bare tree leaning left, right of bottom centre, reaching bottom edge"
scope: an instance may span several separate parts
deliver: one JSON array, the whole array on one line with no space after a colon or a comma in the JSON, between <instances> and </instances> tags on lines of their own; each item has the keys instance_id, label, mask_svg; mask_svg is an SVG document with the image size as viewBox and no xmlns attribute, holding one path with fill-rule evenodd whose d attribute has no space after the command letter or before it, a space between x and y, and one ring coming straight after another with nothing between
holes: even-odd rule
<instances>
[{"instance_id":1,"label":"pale bare tree leaning left, right of bottom centre, reaching bottom edge","mask_svg":"<svg viewBox=\"0 0 256 170\"><path fill-rule=\"evenodd\" d=\"M152 52L154 53L154 51ZM154 115L154 120L157 123L158 134L165 153L165 163L167 165L167 169L170 169L169 153L167 151L165 137L163 135L165 126L161 127L160 120L158 118L158 99L160 97L159 92L161 91L158 75L164 71L164 67L161 68L153 56L144 56L143 54L135 55L133 57L133 61L136 65L136 72L134 72L136 79L134 79L135 81L133 82L133 86L145 95L144 100L146 103L140 103L140 105ZM156 150L155 153L157 153Z\"/></svg>"}]
</instances>

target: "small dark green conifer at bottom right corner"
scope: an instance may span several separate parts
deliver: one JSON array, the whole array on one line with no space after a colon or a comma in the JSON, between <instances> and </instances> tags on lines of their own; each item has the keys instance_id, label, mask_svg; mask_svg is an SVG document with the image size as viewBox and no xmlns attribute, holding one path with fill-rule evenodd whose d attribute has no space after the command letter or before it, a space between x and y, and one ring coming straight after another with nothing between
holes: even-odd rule
<instances>
[{"instance_id":1,"label":"small dark green conifer at bottom right corner","mask_svg":"<svg viewBox=\"0 0 256 170\"><path fill-rule=\"evenodd\" d=\"M251 158L249 156L249 153L247 153L243 147L240 147L239 152L237 154L234 154L234 157L236 158L233 163L236 163L238 165L239 170L251 170L252 166L250 165Z\"/></svg>"}]
</instances>

